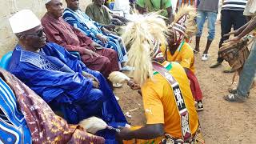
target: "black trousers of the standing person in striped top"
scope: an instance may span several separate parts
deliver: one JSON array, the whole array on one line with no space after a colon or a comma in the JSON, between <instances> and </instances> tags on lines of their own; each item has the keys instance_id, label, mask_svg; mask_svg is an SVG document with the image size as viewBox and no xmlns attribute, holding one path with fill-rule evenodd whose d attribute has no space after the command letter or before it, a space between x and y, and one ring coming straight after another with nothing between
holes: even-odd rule
<instances>
[{"instance_id":1,"label":"black trousers of the standing person in striped top","mask_svg":"<svg viewBox=\"0 0 256 144\"><path fill-rule=\"evenodd\" d=\"M222 43L230 37L223 37L223 35L230 33L233 26L234 30L238 30L241 26L246 24L246 16L243 15L243 10L222 10L221 27L222 27L222 38L218 44L220 48ZM218 62L223 62L223 58L219 57Z\"/></svg>"}]
</instances>

